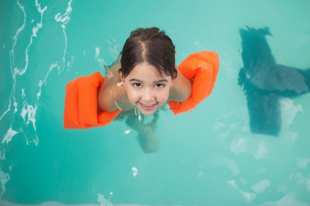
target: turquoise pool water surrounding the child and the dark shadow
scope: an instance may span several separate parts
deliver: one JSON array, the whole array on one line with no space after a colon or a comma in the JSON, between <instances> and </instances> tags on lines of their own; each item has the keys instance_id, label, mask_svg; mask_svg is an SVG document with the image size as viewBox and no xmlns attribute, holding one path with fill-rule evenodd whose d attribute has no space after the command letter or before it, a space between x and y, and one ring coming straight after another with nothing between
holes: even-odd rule
<instances>
[{"instance_id":1,"label":"turquoise pool water surrounding the child and the dark shadow","mask_svg":"<svg viewBox=\"0 0 310 206\"><path fill-rule=\"evenodd\" d=\"M1 206L310 206L309 93L279 99L273 136L251 132L238 85L246 26L269 27L277 64L310 68L309 0L1 0L0 20ZM177 64L219 54L212 94L191 113L160 112L152 154L123 122L64 130L65 84L103 73L152 26Z\"/></svg>"}]
</instances>

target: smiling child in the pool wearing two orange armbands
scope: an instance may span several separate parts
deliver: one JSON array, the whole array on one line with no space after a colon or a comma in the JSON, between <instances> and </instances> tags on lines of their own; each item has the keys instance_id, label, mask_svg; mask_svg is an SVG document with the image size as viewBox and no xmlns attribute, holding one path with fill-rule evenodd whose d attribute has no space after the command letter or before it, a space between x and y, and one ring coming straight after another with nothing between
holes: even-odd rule
<instances>
[{"instance_id":1,"label":"smiling child in the pool wearing two orange armbands","mask_svg":"<svg viewBox=\"0 0 310 206\"><path fill-rule=\"evenodd\" d=\"M66 85L64 128L104 126L117 118L138 131L145 153L157 151L155 112L168 102L174 114L193 109L210 94L216 79L215 52L202 51L186 60L183 76L175 66L175 46L164 31L132 31L104 78L97 72ZM153 114L154 120L144 124L145 115Z\"/></svg>"}]
</instances>

